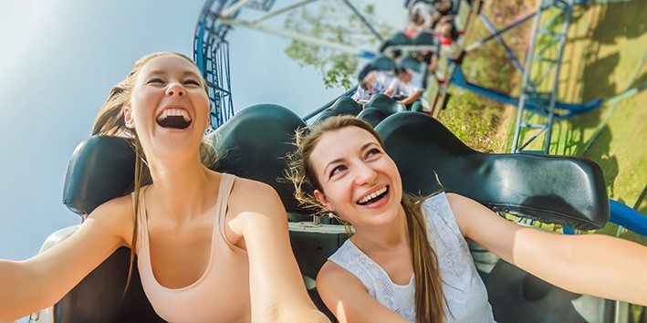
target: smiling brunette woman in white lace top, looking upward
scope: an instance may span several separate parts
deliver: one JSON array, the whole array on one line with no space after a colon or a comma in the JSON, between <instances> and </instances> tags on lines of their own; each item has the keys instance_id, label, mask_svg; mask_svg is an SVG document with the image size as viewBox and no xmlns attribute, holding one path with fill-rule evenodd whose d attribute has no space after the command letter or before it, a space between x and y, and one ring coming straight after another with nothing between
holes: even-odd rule
<instances>
[{"instance_id":1,"label":"smiling brunette woman in white lace top, looking upward","mask_svg":"<svg viewBox=\"0 0 647 323\"><path fill-rule=\"evenodd\" d=\"M647 305L644 246L518 225L454 193L412 199L363 120L330 117L300 132L292 157L299 201L355 230L317 276L319 295L341 322L493 321L466 239L558 287Z\"/></svg>"}]
</instances>

